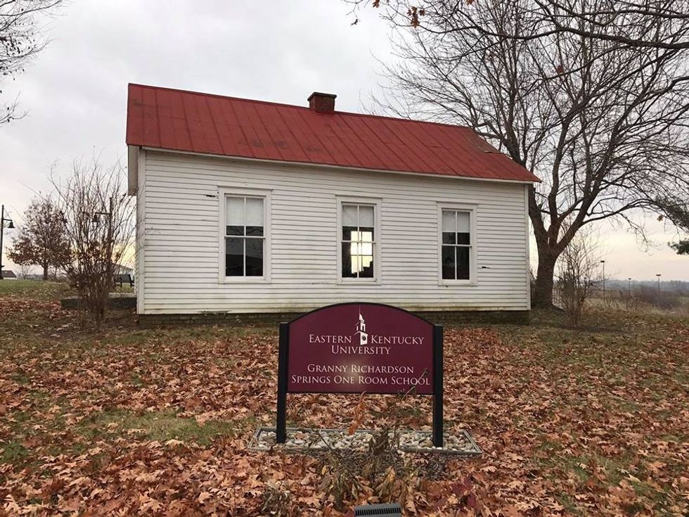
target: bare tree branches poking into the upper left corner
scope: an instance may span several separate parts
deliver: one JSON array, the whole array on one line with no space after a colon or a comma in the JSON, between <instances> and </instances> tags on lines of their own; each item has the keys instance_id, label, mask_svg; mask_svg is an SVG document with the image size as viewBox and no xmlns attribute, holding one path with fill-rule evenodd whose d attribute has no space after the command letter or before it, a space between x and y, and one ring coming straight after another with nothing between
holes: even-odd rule
<instances>
[{"instance_id":1,"label":"bare tree branches poking into the upper left corner","mask_svg":"<svg viewBox=\"0 0 689 517\"><path fill-rule=\"evenodd\" d=\"M41 38L37 15L51 13L61 2L62 0L0 0L2 79L23 72L31 58L44 49L46 42ZM0 113L0 124L17 117L16 107L16 102L5 106L4 113Z\"/></svg>"}]
</instances>

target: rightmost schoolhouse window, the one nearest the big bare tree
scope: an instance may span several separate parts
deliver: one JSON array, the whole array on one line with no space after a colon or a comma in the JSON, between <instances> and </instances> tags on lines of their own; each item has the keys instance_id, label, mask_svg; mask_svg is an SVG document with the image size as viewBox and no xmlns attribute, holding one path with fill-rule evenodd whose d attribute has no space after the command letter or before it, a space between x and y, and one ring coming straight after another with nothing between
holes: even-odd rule
<instances>
[{"instance_id":1,"label":"rightmost schoolhouse window, the one nearest the big bare tree","mask_svg":"<svg viewBox=\"0 0 689 517\"><path fill-rule=\"evenodd\" d=\"M470 210L443 208L441 267L443 280L469 280L472 267Z\"/></svg>"}]
</instances>

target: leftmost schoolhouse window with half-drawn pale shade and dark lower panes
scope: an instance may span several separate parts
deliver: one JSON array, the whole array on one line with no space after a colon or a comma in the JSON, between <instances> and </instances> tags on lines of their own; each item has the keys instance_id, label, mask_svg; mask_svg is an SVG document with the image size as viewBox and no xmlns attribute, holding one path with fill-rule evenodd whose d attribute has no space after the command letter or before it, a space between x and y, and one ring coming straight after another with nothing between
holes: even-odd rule
<instances>
[{"instance_id":1,"label":"leftmost schoolhouse window with half-drawn pale shade and dark lower panes","mask_svg":"<svg viewBox=\"0 0 689 517\"><path fill-rule=\"evenodd\" d=\"M225 276L265 278L266 198L225 196Z\"/></svg>"}]
</instances>

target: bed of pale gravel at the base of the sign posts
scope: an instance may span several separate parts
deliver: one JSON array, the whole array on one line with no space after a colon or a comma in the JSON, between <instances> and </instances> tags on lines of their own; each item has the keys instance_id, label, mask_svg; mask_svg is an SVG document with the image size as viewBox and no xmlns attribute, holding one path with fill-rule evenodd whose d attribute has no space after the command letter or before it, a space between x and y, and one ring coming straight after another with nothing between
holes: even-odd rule
<instances>
[{"instance_id":1,"label":"bed of pale gravel at the base of the sign posts","mask_svg":"<svg viewBox=\"0 0 689 517\"><path fill-rule=\"evenodd\" d=\"M322 451L337 450L366 451L375 431L359 429L352 435L347 429L287 428L287 440L283 445L275 442L275 428L262 427L256 430L249 442L249 449L266 451L273 447ZM462 456L478 456L481 449L466 431L456 434L444 433L444 447L433 447L430 431L402 430L399 433L399 450L404 452L442 452Z\"/></svg>"}]
</instances>

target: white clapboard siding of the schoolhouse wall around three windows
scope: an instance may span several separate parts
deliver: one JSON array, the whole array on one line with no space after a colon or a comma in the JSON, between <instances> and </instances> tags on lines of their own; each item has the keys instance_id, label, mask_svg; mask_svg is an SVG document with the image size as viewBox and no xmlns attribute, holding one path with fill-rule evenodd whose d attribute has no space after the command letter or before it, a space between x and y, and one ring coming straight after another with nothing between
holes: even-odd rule
<instances>
[{"instance_id":1,"label":"white clapboard siding of the schoolhouse wall around three windows","mask_svg":"<svg viewBox=\"0 0 689 517\"><path fill-rule=\"evenodd\" d=\"M270 281L219 281L220 189L271 191ZM347 301L413 310L529 308L524 184L148 150L139 159L137 196L143 314L299 312ZM336 196L380 200L380 283L338 281ZM439 285L438 203L475 207L475 285Z\"/></svg>"}]
</instances>

